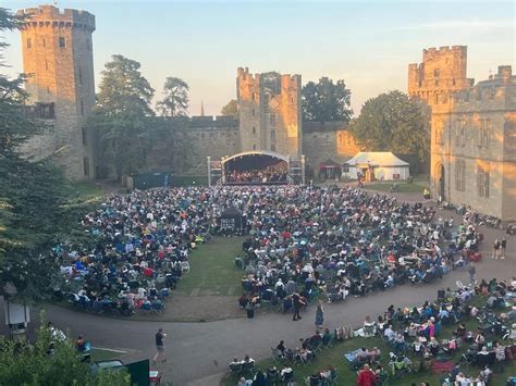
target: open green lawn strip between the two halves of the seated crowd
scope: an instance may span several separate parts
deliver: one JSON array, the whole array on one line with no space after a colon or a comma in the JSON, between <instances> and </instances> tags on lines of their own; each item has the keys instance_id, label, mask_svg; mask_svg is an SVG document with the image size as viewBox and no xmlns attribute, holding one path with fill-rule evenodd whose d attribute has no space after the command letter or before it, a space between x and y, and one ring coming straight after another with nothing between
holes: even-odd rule
<instances>
[{"instance_id":1,"label":"open green lawn strip between the two halves of the seated crowd","mask_svg":"<svg viewBox=\"0 0 516 386\"><path fill-rule=\"evenodd\" d=\"M242 256L245 237L213 237L188 258L191 271L181 277L176 292L192 296L237 296L243 271L234 259Z\"/></svg>"}]
</instances>

